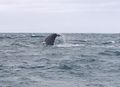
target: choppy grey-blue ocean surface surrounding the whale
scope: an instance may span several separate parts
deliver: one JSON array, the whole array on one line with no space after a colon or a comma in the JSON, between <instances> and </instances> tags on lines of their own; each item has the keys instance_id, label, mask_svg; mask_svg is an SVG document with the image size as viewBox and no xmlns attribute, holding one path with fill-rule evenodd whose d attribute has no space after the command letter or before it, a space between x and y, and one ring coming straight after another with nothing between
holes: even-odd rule
<instances>
[{"instance_id":1,"label":"choppy grey-blue ocean surface surrounding the whale","mask_svg":"<svg viewBox=\"0 0 120 87\"><path fill-rule=\"evenodd\" d=\"M120 34L0 33L0 87L120 87Z\"/></svg>"}]
</instances>

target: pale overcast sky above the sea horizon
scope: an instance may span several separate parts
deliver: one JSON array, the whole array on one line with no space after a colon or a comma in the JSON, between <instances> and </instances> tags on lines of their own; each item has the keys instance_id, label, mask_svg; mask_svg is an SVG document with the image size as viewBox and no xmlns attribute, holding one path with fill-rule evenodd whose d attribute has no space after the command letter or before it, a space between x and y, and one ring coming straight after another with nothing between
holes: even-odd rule
<instances>
[{"instance_id":1,"label":"pale overcast sky above the sea horizon","mask_svg":"<svg viewBox=\"0 0 120 87\"><path fill-rule=\"evenodd\" d=\"M120 33L120 0L0 0L0 32Z\"/></svg>"}]
</instances>

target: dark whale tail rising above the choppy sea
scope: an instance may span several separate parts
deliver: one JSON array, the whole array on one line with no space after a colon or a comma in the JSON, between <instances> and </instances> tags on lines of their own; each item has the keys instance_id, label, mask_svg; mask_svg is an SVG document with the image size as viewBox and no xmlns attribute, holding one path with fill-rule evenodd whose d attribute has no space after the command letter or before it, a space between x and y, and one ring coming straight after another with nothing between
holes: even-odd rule
<instances>
[{"instance_id":1,"label":"dark whale tail rising above the choppy sea","mask_svg":"<svg viewBox=\"0 0 120 87\"><path fill-rule=\"evenodd\" d=\"M60 36L60 35L59 35L59 34L56 34L56 33L50 34L50 35L45 39L45 44L46 44L46 45L54 45L55 38L56 38L57 36Z\"/></svg>"}]
</instances>

